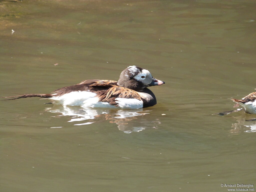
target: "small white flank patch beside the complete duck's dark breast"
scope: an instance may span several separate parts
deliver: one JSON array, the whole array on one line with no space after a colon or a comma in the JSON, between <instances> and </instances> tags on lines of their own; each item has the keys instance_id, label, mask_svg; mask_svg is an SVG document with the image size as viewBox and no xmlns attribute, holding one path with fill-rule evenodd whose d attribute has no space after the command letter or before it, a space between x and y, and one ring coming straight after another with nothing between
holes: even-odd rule
<instances>
[{"instance_id":1,"label":"small white flank patch beside the complete duck's dark breast","mask_svg":"<svg viewBox=\"0 0 256 192\"><path fill-rule=\"evenodd\" d=\"M121 109L140 109L143 108L143 101L138 99L116 98L116 103Z\"/></svg>"}]
</instances>

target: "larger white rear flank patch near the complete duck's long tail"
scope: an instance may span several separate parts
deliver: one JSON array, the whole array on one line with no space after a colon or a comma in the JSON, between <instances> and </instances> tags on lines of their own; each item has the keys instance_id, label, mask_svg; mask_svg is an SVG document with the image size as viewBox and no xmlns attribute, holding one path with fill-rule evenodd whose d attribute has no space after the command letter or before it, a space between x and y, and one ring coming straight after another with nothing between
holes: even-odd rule
<instances>
[{"instance_id":1,"label":"larger white rear flank patch near the complete duck's long tail","mask_svg":"<svg viewBox=\"0 0 256 192\"><path fill-rule=\"evenodd\" d=\"M54 104L82 106L84 104L84 101L90 98L94 98L95 96L96 96L96 93L92 93L89 91L73 91L61 96L57 96L57 97L54 96L49 99L53 101Z\"/></svg>"}]
</instances>

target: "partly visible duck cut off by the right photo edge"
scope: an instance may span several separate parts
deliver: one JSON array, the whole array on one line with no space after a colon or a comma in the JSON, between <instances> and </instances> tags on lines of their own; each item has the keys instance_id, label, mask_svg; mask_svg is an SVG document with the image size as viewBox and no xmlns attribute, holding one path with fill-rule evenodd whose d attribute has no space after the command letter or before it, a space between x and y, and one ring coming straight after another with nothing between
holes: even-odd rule
<instances>
[{"instance_id":1,"label":"partly visible duck cut off by the right photo edge","mask_svg":"<svg viewBox=\"0 0 256 192\"><path fill-rule=\"evenodd\" d=\"M241 106L242 109L249 114L256 114L256 92L252 92L242 99L231 99L236 102L234 107Z\"/></svg>"}]
</instances>

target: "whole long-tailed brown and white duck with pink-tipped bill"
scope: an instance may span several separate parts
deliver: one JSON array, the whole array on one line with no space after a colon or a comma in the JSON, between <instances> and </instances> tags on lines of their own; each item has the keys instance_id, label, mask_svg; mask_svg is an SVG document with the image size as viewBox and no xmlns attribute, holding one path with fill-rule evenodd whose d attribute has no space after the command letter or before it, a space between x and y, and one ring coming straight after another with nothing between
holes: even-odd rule
<instances>
[{"instance_id":1,"label":"whole long-tailed brown and white duck with pink-tipped bill","mask_svg":"<svg viewBox=\"0 0 256 192\"><path fill-rule=\"evenodd\" d=\"M140 109L156 104L156 97L148 87L164 83L164 81L153 78L147 69L133 65L121 72L118 81L84 80L75 85L59 88L49 94L23 94L1 98L14 100L40 97L49 99L53 104L83 108Z\"/></svg>"}]
</instances>

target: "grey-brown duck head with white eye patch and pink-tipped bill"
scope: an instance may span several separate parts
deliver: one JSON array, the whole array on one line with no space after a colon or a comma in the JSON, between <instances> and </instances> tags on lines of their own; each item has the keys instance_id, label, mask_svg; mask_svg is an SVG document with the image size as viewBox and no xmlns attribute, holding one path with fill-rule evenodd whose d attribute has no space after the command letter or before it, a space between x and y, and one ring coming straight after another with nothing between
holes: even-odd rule
<instances>
[{"instance_id":1,"label":"grey-brown duck head with white eye patch and pink-tipped bill","mask_svg":"<svg viewBox=\"0 0 256 192\"><path fill-rule=\"evenodd\" d=\"M164 81L153 78L147 69L129 66L120 74L118 85L135 91L140 91L150 86L162 85Z\"/></svg>"}]
</instances>

